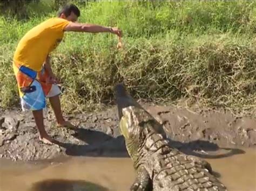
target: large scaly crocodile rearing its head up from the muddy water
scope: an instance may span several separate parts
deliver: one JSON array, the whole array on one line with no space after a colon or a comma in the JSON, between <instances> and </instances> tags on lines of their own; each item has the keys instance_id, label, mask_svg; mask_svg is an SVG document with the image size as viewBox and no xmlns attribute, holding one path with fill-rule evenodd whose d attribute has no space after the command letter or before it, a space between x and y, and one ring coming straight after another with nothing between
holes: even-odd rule
<instances>
[{"instance_id":1,"label":"large scaly crocodile rearing its head up from the muddy water","mask_svg":"<svg viewBox=\"0 0 256 191\"><path fill-rule=\"evenodd\" d=\"M133 161L130 190L227 190L203 159L171 147L163 125L136 102L123 83L114 87L119 129Z\"/></svg>"}]
</instances>

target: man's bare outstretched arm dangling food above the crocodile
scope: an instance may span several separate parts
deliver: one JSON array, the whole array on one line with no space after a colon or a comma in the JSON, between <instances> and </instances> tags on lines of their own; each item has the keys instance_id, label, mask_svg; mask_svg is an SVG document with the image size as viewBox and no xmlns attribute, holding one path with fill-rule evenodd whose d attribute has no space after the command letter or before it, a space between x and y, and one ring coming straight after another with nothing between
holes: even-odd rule
<instances>
[{"instance_id":1,"label":"man's bare outstretched arm dangling food above the crocodile","mask_svg":"<svg viewBox=\"0 0 256 191\"><path fill-rule=\"evenodd\" d=\"M122 31L116 27L105 27L96 24L80 24L80 23L70 23L65 28L64 31L74 31L74 32L90 32L90 33L99 33L99 32L111 32L117 34L117 36L122 36Z\"/></svg>"}]
</instances>

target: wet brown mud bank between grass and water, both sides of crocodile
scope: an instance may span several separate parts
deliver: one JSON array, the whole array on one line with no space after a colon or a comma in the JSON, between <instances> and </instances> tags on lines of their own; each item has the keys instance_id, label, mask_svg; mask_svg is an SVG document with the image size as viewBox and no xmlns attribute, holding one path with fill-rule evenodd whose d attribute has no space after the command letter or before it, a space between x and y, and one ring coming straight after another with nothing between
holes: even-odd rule
<instances>
[{"instance_id":1,"label":"wet brown mud bank between grass and water, both sides of crocodile","mask_svg":"<svg viewBox=\"0 0 256 191\"><path fill-rule=\"evenodd\" d=\"M161 123L171 145L202 158L222 158L243 153L239 147L256 146L256 119L230 112L183 109L143 104ZM44 160L63 156L127 157L118 129L116 107L92 114L68 115L75 129L57 128L51 110L45 111L46 131L58 145L45 145L30 113L0 113L0 157Z\"/></svg>"}]
</instances>

